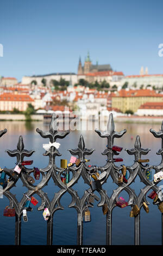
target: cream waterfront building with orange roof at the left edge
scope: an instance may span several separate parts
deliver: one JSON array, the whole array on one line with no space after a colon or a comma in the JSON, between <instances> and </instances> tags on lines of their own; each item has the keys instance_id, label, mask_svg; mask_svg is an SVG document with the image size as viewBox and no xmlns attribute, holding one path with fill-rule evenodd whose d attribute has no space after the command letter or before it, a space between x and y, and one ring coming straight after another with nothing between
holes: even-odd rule
<instances>
[{"instance_id":1,"label":"cream waterfront building with orange roof at the left edge","mask_svg":"<svg viewBox=\"0 0 163 256\"><path fill-rule=\"evenodd\" d=\"M3 93L0 95L0 111L26 111L28 104L34 105L34 100L29 95Z\"/></svg>"}]
</instances>

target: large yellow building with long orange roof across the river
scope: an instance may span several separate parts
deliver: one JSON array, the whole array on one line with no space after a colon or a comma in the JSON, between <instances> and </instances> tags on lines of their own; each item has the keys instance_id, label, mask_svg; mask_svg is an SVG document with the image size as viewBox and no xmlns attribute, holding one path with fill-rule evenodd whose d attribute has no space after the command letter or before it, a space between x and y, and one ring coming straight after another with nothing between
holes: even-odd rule
<instances>
[{"instance_id":1,"label":"large yellow building with long orange roof across the river","mask_svg":"<svg viewBox=\"0 0 163 256\"><path fill-rule=\"evenodd\" d=\"M123 113L129 109L136 112L146 102L163 102L163 95L149 89L122 89L112 96L112 108L120 109Z\"/></svg>"}]
</instances>

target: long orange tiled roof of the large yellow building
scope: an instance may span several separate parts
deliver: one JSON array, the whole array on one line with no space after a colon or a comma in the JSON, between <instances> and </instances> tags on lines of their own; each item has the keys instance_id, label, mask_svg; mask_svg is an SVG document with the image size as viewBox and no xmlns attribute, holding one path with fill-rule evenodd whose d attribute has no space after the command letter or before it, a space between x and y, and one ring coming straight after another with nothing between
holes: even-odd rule
<instances>
[{"instance_id":1,"label":"long orange tiled roof of the large yellow building","mask_svg":"<svg viewBox=\"0 0 163 256\"><path fill-rule=\"evenodd\" d=\"M125 90L122 89L116 93L113 97L143 97L143 96L153 96L153 97L163 97L161 94L157 94L154 90L140 89L140 90Z\"/></svg>"}]
</instances>

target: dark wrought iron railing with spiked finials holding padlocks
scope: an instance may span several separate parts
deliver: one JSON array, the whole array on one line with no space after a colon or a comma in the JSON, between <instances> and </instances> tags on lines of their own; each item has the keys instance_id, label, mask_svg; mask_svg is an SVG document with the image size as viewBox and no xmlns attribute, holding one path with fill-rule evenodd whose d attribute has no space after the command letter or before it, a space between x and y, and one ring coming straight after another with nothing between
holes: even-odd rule
<instances>
[{"instance_id":1,"label":"dark wrought iron railing with spiked finials holding padlocks","mask_svg":"<svg viewBox=\"0 0 163 256\"><path fill-rule=\"evenodd\" d=\"M49 125L49 131L43 132L42 130L36 129L36 131L41 135L42 138L49 138L49 142L55 143L58 138L65 138L70 131L60 132L57 129L57 117L55 114L52 116L51 124ZM141 148L140 137L136 137L135 148L134 149L126 149L129 155L135 156L135 162L132 166L126 166L126 169L129 172L129 177L127 183L124 180L120 183L118 178L122 176L121 172L124 166L116 166L115 165L115 156L117 155L117 151L113 150L112 147L114 145L114 138L121 138L126 130L121 132L115 131L114 119L112 114L109 116L107 131L99 131L95 130L101 138L108 139L108 145L106 149L102 153L107 157L106 164L103 167L95 168L94 166L88 166L85 161L85 156L91 155L94 149L85 148L85 143L83 136L80 136L78 148L69 149L70 153L73 156L78 156L80 159L80 163L78 165L73 164L68 168L69 172L72 173L72 179L67 183L63 182L61 179L61 175L65 172L64 168L59 168L55 165L55 157L61 156L58 149L54 147L55 144L50 145L49 149L43 154L44 156L49 157L49 163L46 168L40 168L39 171L42 174L42 180L36 186L33 185L33 182L29 180L30 174L34 172L34 169L29 169L26 167L22 168L20 174L14 172L14 168L7 169L4 168L3 172L7 176L9 176L8 182L5 183L3 187L3 195L9 199L10 205L9 209L15 209L15 245L21 244L21 220L23 215L24 207L26 206L28 198L31 198L34 194L37 194L41 198L41 205L37 208L39 211L45 210L48 208L50 216L47 220L47 245L52 245L53 241L53 217L55 216L55 212L61 209L64 209L60 204L60 199L65 193L69 193L72 197L72 202L69 205L70 208L75 208L77 210L78 219L77 219L77 245L83 244L83 217L85 215L85 211L91 207L93 204L91 203L92 198L92 185L90 184L90 176L92 173L97 173L97 169L99 173L103 173L102 180L100 184L103 186L105 182L107 182L109 175L112 180L117 184L117 189L113 191L111 197L108 196L106 190L102 187L98 187L96 190L99 193L99 203L98 207L102 207L106 213L106 245L111 245L111 227L112 227L112 210L117 207L118 196L122 191L126 191L129 194L129 200L127 202L127 207L131 207L131 214L134 214L135 218L135 245L140 244L140 212L139 210L146 205L146 210L148 210L149 203L147 202L146 195L149 190L153 190L158 196L160 192L160 188L157 186L159 181L154 182L147 178L147 170L154 169L155 173L159 173L163 170L163 122L161 125L161 130L156 132L154 130L150 130L153 133L154 137L162 139L162 147L158 151L158 155L161 155L162 160L158 166L151 166L150 164L142 164L141 156L147 155L150 149ZM0 137L2 137L7 132L7 129L4 129L0 132ZM18 139L17 149L15 150L6 150L9 156L17 158L17 164L21 166L24 157L32 156L34 150L25 150L23 144L22 136ZM134 182L136 176L139 175L141 182L145 184L145 187L141 189L141 192L138 196L136 196L135 191L130 185ZM73 185L76 184L79 178L82 176L84 182L90 186L89 190L84 191L84 195L82 198L78 196L77 191L73 190ZM49 179L51 177L54 180L55 185L57 185L60 190L59 192L54 194L52 201L49 200L47 193L43 192L42 188L48 184ZM124 175L123 175L124 178ZM163 177L162 177L163 178ZM11 188L15 186L18 179L21 179L24 186L28 188L28 192L23 194L23 197L20 202L16 199L15 195L10 192ZM98 178L97 178L98 179ZM96 179L93 181L96 185ZM97 196L95 196L97 197ZM97 198L96 198L97 199ZM162 199L163 200L163 199ZM123 199L122 199L123 201ZM122 202L123 203L123 202ZM160 196L159 198L155 197L155 204L158 206L161 204ZM136 211L134 212L134 206L136 205ZM119 205L120 206L120 205ZM138 210L137 210L138 209ZM28 209L27 209L28 210ZM162 223L163 223L163 215L161 214ZM162 229L163 230L163 229ZM163 231L162 231L162 244L163 244Z\"/></svg>"}]
</instances>

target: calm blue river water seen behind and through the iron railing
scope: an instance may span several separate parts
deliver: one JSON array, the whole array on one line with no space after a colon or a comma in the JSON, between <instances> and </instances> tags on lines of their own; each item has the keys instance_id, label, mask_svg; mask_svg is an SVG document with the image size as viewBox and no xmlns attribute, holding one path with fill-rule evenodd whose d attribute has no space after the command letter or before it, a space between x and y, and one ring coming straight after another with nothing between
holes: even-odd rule
<instances>
[{"instance_id":1,"label":"calm blue river water seen behind and through the iron railing","mask_svg":"<svg viewBox=\"0 0 163 256\"><path fill-rule=\"evenodd\" d=\"M36 132L36 128L43 131L49 130L49 124L43 124L40 121L25 123L21 121L2 121L0 123L0 130L4 128L8 129L8 132L0 138L0 166L13 168L15 166L16 157L10 157L5 153L6 149L16 149L18 137L23 136L24 148L27 150L34 149L35 153L29 159L34 160L33 166L38 168L46 167L48 164L48 157L42 156L45 150L42 148L43 143L48 143L48 139L43 139ZM95 124L96 127L96 124ZM125 148L134 148L136 135L140 136L142 148L149 148L151 151L148 153L148 159L150 164L157 165L161 161L161 157L156 155L156 152L161 148L161 139L154 138L149 129L153 128L155 131L160 130L160 125L150 124L126 124L115 123L115 130L121 131L127 129L127 133L122 138L115 139L115 145L123 147L120 157L123 158L123 163L126 165L133 164L134 156L129 156ZM104 149L106 148L106 138L100 138L93 130L89 131L71 131L64 139L58 139L60 148L59 152L61 157L56 157L56 164L60 167L60 159L70 160L71 154L67 149L74 149L78 147L78 141L80 135L83 135L85 141L85 147L87 149L94 148L95 152L89 156L90 164L97 166L104 166L106 157L103 156ZM131 140L131 136L133 139ZM88 158L88 157L87 157ZM27 159L27 158L26 158ZM116 164L120 165L121 162ZM32 167L33 167L32 166ZM153 173L154 174L154 173ZM163 181L162 181L163 182ZM159 185L162 185L160 182ZM136 194L139 194L140 189L145 185L140 182L140 178L137 177L135 182L130 186L134 188ZM79 197L83 196L83 191L88 188L84 184L82 177L78 184L73 186L74 190L78 191ZM108 192L109 196L112 194L112 190L117 188L117 185L112 183L112 179L103 185L103 188ZM21 200L22 193L27 192L27 188L22 186L21 180L18 180L16 187L10 190L16 194L16 198ZM48 193L49 199L52 200L54 193L59 191L57 186L54 186L53 180L49 180L48 186L43 188L43 191ZM149 193L149 192L148 192ZM98 194L98 193L97 193ZM36 199L41 200L37 195L34 195ZM126 200L128 200L128 194L122 192ZM54 234L53 245L76 245L77 241L77 212L73 208L68 208L71 203L70 194L66 193L61 198L61 205L64 206L64 210L59 210L54 214ZM148 198L149 213L141 210L141 245L161 245L161 212L156 205L152 204L152 199ZM3 210L5 206L9 205L7 198L0 199L0 244L1 245L14 245L15 238L15 218L9 218L3 216ZM134 218L129 217L130 207L124 209L116 207L112 211L112 245L134 245ZM84 245L105 245L105 220L106 216L103 215L102 208L98 208L97 201L95 200L94 207L90 208L91 222L84 223ZM43 220L42 211L37 211L37 206L33 206L32 212L27 212L28 222L22 220L22 245L46 245L47 236L47 223Z\"/></svg>"}]
</instances>

